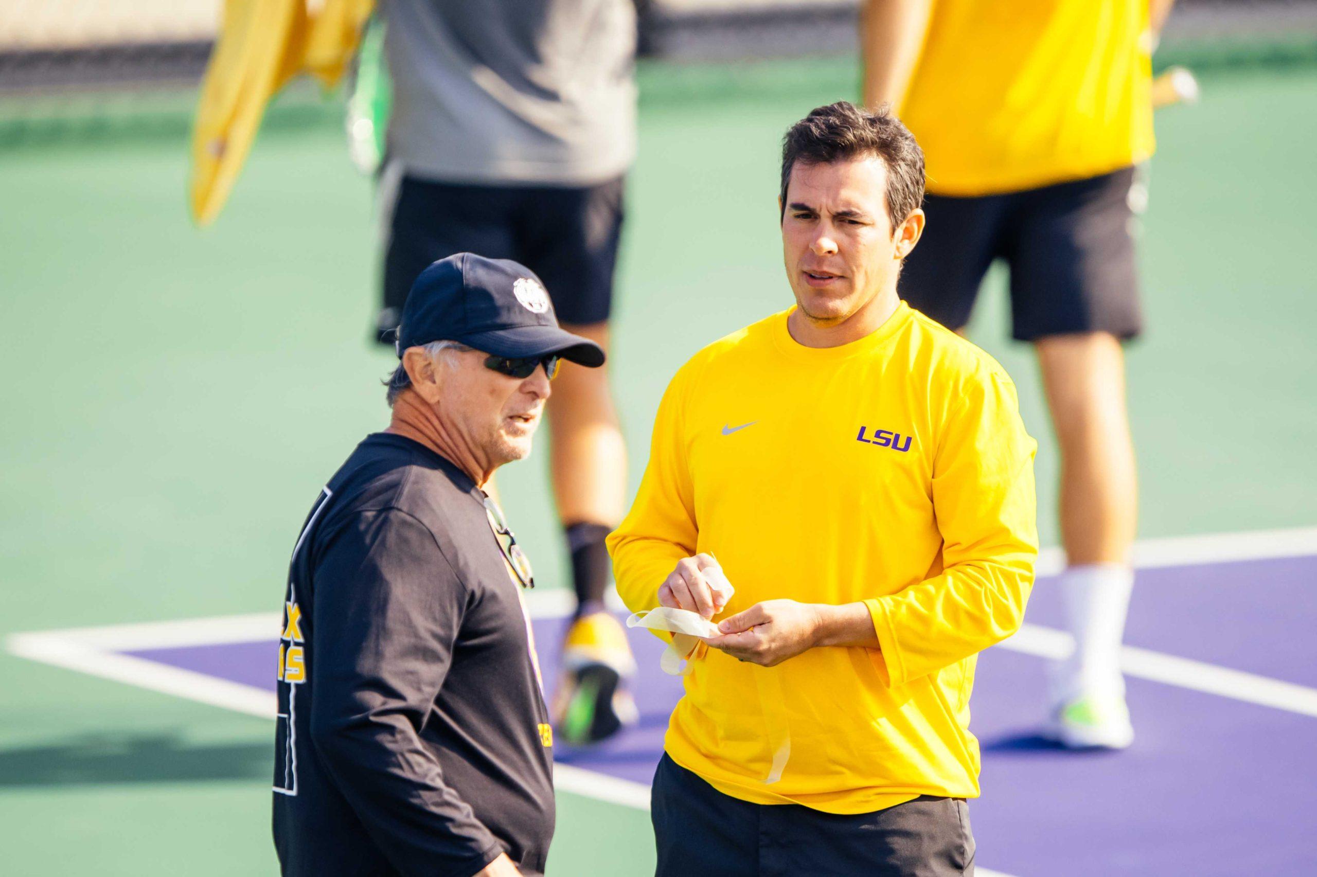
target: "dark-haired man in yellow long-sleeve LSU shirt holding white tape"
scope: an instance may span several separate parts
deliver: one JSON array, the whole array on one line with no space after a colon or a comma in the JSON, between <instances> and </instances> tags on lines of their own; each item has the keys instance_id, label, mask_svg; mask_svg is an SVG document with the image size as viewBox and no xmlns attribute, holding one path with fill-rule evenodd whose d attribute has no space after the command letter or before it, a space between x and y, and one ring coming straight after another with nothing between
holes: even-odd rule
<instances>
[{"instance_id":1,"label":"dark-haired man in yellow long-sleeve LSU shirt holding white tape","mask_svg":"<svg viewBox=\"0 0 1317 877\"><path fill-rule=\"evenodd\" d=\"M969 691L1025 612L1036 445L1001 366L897 296L923 183L890 115L792 126L795 307L681 367L608 537L628 607L719 622L655 774L660 876L973 873Z\"/></svg>"}]
</instances>

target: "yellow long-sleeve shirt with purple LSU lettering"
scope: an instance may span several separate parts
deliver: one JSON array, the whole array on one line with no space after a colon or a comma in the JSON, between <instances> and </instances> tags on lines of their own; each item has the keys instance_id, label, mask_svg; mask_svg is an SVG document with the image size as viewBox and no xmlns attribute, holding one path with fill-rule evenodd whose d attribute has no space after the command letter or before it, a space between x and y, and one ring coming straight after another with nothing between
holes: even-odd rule
<instances>
[{"instance_id":1,"label":"yellow long-sleeve shirt with purple LSU lettering","mask_svg":"<svg viewBox=\"0 0 1317 877\"><path fill-rule=\"evenodd\" d=\"M881 648L774 668L709 649L666 751L755 803L855 814L976 797L975 656L1019 627L1038 553L1036 445L1014 385L905 303L839 348L797 344L788 315L673 378L608 537L618 591L652 608L680 558L712 552L736 589L719 618L773 598L864 600Z\"/></svg>"}]
</instances>

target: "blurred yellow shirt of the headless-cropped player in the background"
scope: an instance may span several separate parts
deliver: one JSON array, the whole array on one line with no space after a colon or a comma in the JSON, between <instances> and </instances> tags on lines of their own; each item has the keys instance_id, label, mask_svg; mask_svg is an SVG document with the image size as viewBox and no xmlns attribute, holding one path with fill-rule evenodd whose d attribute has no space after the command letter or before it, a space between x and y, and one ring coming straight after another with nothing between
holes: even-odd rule
<instances>
[{"instance_id":1,"label":"blurred yellow shirt of the headless-cropped player in the background","mask_svg":"<svg viewBox=\"0 0 1317 877\"><path fill-rule=\"evenodd\" d=\"M996 195L1152 155L1147 0L934 0L900 108L928 191Z\"/></svg>"}]
</instances>

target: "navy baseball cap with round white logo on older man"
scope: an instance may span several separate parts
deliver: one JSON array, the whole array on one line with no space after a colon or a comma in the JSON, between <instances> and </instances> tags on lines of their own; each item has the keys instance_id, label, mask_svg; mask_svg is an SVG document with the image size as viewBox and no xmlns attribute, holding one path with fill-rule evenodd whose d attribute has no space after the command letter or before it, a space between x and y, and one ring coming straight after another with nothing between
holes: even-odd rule
<instances>
[{"instance_id":1,"label":"navy baseball cap with round white logo on older man","mask_svg":"<svg viewBox=\"0 0 1317 877\"><path fill-rule=\"evenodd\" d=\"M458 253L420 273L398 327L398 357L431 341L457 341L498 357L560 356L595 369L603 348L558 327L549 294L511 259Z\"/></svg>"}]
</instances>

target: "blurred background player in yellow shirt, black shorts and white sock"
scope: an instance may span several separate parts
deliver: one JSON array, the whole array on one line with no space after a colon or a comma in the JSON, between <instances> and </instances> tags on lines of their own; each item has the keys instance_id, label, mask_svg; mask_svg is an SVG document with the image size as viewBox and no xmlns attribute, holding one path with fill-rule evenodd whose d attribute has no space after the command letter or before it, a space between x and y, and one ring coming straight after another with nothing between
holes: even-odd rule
<instances>
[{"instance_id":1,"label":"blurred background player in yellow shirt, black shorts and white sock","mask_svg":"<svg viewBox=\"0 0 1317 877\"><path fill-rule=\"evenodd\" d=\"M1076 649L1050 733L1134 739L1119 669L1138 511L1121 344L1142 328L1133 230L1152 155L1151 34L1169 0L868 0L864 101L927 159L928 234L900 294L963 331L989 265L1010 267L1060 446L1060 589Z\"/></svg>"}]
</instances>

